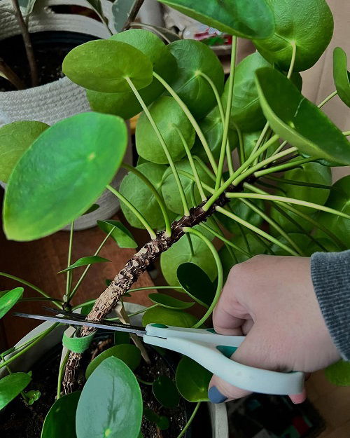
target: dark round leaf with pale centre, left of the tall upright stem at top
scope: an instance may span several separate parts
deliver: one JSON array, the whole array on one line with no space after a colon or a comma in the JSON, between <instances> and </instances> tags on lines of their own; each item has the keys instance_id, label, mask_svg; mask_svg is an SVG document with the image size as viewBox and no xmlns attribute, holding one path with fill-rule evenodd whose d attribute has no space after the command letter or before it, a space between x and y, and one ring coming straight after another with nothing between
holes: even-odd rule
<instances>
[{"instance_id":1,"label":"dark round leaf with pale centre, left of the tall upright stem at top","mask_svg":"<svg viewBox=\"0 0 350 438\"><path fill-rule=\"evenodd\" d=\"M200 41L181 39L169 44L169 50L176 58L178 71L172 88L195 118L202 118L215 105L216 98L211 86L199 73L207 74L218 92L223 93L223 66L213 50Z\"/></svg>"}]
</instances>

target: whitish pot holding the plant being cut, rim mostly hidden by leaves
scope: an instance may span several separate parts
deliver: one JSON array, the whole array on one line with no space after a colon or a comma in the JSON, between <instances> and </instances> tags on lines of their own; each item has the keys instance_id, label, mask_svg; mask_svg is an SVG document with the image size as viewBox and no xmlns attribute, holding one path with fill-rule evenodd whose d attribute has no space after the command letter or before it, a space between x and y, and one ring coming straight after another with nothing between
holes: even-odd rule
<instances>
[{"instance_id":1,"label":"whitish pot holding the plant being cut, rim mostly hidden by leaves","mask_svg":"<svg viewBox=\"0 0 350 438\"><path fill-rule=\"evenodd\" d=\"M125 303L128 313L134 313L144 306L134 303ZM131 318L131 322L134 325L141 325L141 315L136 315ZM24 338L22 338L16 345L20 345L29 339L33 338L37 334L41 333L43 330L48 329L52 325L51 322L43 322L43 324L38 325L35 329L31 330ZM13 371L29 371L31 367L38 362L41 356L48 353L54 345L62 342L62 335L66 327L59 326L55 330L51 331L48 336L45 336L42 341L30 348L18 359L14 360L11 364L11 369ZM8 355L6 359L11 357ZM0 370L0 378L6 375L6 370ZM211 428L213 431L213 438L228 438L228 416L226 412L225 404L211 404L208 403L209 413L211 418Z\"/></svg>"}]
</instances>

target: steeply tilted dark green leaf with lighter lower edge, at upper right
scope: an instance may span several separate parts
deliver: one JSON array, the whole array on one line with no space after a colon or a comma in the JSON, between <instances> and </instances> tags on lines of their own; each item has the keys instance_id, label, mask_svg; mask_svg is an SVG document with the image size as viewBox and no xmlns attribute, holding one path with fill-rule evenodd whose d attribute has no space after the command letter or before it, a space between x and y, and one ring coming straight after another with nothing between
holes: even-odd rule
<instances>
[{"instance_id":1,"label":"steeply tilted dark green leaf with lighter lower edge, at upper right","mask_svg":"<svg viewBox=\"0 0 350 438\"><path fill-rule=\"evenodd\" d=\"M342 131L286 76L265 67L256 77L262 111L276 134L307 156L331 165L350 164L350 143Z\"/></svg>"}]
</instances>

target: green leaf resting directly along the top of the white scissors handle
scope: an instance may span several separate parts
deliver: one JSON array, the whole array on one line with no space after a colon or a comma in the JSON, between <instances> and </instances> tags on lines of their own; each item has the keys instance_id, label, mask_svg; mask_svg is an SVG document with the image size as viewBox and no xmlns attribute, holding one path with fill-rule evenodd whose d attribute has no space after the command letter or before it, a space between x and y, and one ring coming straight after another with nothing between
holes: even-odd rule
<instances>
[{"instance_id":1,"label":"green leaf resting directly along the top of the white scissors handle","mask_svg":"<svg viewBox=\"0 0 350 438\"><path fill-rule=\"evenodd\" d=\"M153 307L146 310L142 317L142 325L147 324L165 324L174 325L175 327L193 327L197 318L183 310L174 310L166 307Z\"/></svg>"}]
</instances>

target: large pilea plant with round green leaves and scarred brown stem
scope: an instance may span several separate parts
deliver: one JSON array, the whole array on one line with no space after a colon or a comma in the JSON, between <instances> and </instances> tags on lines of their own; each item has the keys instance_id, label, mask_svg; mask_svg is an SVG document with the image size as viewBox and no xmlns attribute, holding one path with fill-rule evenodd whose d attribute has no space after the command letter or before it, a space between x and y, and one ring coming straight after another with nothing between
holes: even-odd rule
<instances>
[{"instance_id":1,"label":"large pilea plant with round green leaves and scarred brown stem","mask_svg":"<svg viewBox=\"0 0 350 438\"><path fill-rule=\"evenodd\" d=\"M66 291L62 299L51 299L58 309L71 310L90 266L107 262L99 252L108 238L120 247L138 246L120 222L99 221L106 234L102 244L92 256L72 263L73 221L97 208L94 201L109 189L127 221L145 228L150 240L95 301L75 308L86 312L92 306L86 319L101 321L119 303L118 317L128 322L123 295L136 293L132 284L160 257L167 285L158 289L179 290L191 301L150 294L154 305L143 310L143 324L198 328L209 326L233 265L255 254L309 256L350 247L350 177L332 184L330 175L331 166L350 165L350 132L341 132L322 111L335 95L349 106L349 73L344 51L336 48L335 91L319 103L301 93L299 71L318 60L332 36L332 15L324 0L161 2L232 34L227 81L216 55L197 41L165 45L151 32L132 29L74 48L63 71L86 88L94 111L50 127L23 121L1 128L0 151L7 159L0 177L8 182L3 227L9 239L26 241L72 224ZM238 65L237 36L251 39L258 50ZM124 119L140 112L135 136L139 161L131 167L123 164ZM239 163L232 161L235 148ZM109 183L120 166L129 173L116 190ZM219 251L214 238L223 244ZM73 283L78 266L86 268ZM2 293L0 316L22 292ZM203 308L199 320L187 310L195 302ZM4 352L0 367L10 373L14 358L53 329L55 324ZM147 382L138 382L132 371L137 376L147 352L139 342L133 346L118 335L116 345L87 367L83 386L78 378L81 343L87 345L84 339L90 341L93 334L94 329L83 327L66 341L73 351L59 369L57 401L45 419L44 438L62 436L63 424L66 434L78 438L141 436L139 385ZM6 358L9 353L14 355ZM327 374L336 383L349 383L349 364L339 362ZM193 415L207 399L209 378L187 357L179 362L177 391L197 402ZM1 407L20 392L29 398L23 392L29 380L25 373L2 378ZM161 376L152 384L160 405L179 402L171 379ZM34 401L38 394L30 397ZM167 428L162 409L145 409L144 416L160 430Z\"/></svg>"}]
</instances>

